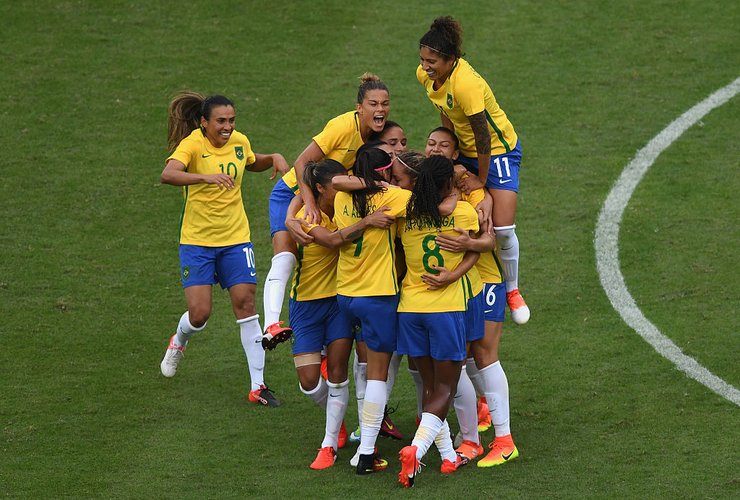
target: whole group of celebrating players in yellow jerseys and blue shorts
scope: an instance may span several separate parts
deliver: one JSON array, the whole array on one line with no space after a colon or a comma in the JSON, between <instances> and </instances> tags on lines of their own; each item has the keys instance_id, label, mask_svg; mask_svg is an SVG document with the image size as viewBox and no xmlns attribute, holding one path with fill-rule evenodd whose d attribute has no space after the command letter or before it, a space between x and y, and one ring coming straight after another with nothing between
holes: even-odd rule
<instances>
[{"instance_id":1,"label":"whole group of celebrating players in yellow jerseys and blue shorts","mask_svg":"<svg viewBox=\"0 0 740 500\"><path fill-rule=\"evenodd\" d=\"M290 167L255 153L234 129L233 103L185 92L170 105L162 182L183 186L180 271L188 310L161 363L172 377L188 340L211 313L211 288L228 289L249 365L249 401L277 406L264 383L264 349L293 339L301 390L326 412L312 469L334 465L347 441L357 474L388 467L380 432L400 438L387 401L401 357L417 390L417 430L399 452L399 481L412 486L435 444L441 472L519 455L498 359L505 307L529 319L518 287L514 217L521 147L478 73L462 58L460 25L435 19L419 43L419 83L440 113L424 151L408 151L388 120L390 93L365 74L355 109L330 120ZM270 195L274 256L264 284L263 330L256 270L241 197L245 171L283 175ZM280 321L286 290L290 328ZM349 359L359 428L347 436ZM451 439L453 402L460 424ZM493 426L485 454L479 428ZM457 445L457 446L455 446Z\"/></svg>"}]
</instances>

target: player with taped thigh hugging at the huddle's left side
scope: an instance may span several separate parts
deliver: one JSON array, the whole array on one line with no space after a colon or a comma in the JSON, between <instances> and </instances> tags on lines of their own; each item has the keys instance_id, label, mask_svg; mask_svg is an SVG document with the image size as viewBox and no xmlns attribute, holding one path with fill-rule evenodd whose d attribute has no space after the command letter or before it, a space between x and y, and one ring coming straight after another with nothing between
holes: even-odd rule
<instances>
[{"instance_id":1,"label":"player with taped thigh hugging at the huddle's left side","mask_svg":"<svg viewBox=\"0 0 740 500\"><path fill-rule=\"evenodd\" d=\"M347 363L354 334L352 324L337 306L336 266L338 248L361 236L368 225L384 228L394 218L378 210L352 226L338 231L332 219L336 191L331 186L344 166L334 160L309 162L304 169L305 184L311 188L321 212L318 224L306 223L303 230L313 243L298 245L298 266L290 287L289 317L293 327L293 359L301 391L326 410L326 433L312 469L334 465L340 443L340 429L349 400ZM301 209L295 219L302 219ZM286 221L287 222L287 221ZM321 350L326 346L327 380L320 375ZM346 441L346 430L344 431Z\"/></svg>"}]
</instances>

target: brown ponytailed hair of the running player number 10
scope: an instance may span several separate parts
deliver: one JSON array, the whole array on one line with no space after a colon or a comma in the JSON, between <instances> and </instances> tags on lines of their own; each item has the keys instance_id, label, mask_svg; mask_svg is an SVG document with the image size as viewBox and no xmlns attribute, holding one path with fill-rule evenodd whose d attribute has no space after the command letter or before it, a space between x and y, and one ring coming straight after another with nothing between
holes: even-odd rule
<instances>
[{"instance_id":1,"label":"brown ponytailed hair of the running player number 10","mask_svg":"<svg viewBox=\"0 0 740 500\"><path fill-rule=\"evenodd\" d=\"M172 98L167 110L167 147L170 153L180 141L200 127L201 117L208 120L215 106L231 106L234 103L222 95L204 96L185 90Z\"/></svg>"}]
</instances>

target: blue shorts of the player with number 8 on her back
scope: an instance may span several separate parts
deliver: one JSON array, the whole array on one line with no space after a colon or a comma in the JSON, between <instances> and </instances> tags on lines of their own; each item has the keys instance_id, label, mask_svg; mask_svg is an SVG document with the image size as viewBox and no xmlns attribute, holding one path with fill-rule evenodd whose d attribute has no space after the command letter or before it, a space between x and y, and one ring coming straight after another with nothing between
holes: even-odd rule
<instances>
[{"instance_id":1,"label":"blue shorts of the player with number 8 on her back","mask_svg":"<svg viewBox=\"0 0 740 500\"><path fill-rule=\"evenodd\" d=\"M398 313L398 353L437 361L464 360L465 313Z\"/></svg>"}]
</instances>

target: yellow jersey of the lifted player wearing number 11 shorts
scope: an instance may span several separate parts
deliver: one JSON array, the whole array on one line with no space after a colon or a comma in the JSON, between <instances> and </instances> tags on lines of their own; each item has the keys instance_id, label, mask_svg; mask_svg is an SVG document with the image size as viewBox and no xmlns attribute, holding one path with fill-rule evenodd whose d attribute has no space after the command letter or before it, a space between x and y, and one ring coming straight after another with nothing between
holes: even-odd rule
<instances>
[{"instance_id":1,"label":"yellow jersey of the lifted player wearing number 11 shorts","mask_svg":"<svg viewBox=\"0 0 740 500\"><path fill-rule=\"evenodd\" d=\"M491 154L508 153L516 147L514 127L496 102L491 87L465 59L457 60L452 73L437 90L434 90L434 81L421 65L416 69L416 78L424 86L432 104L454 125L462 154L470 158L478 157L468 117L483 111L491 132Z\"/></svg>"}]
</instances>

